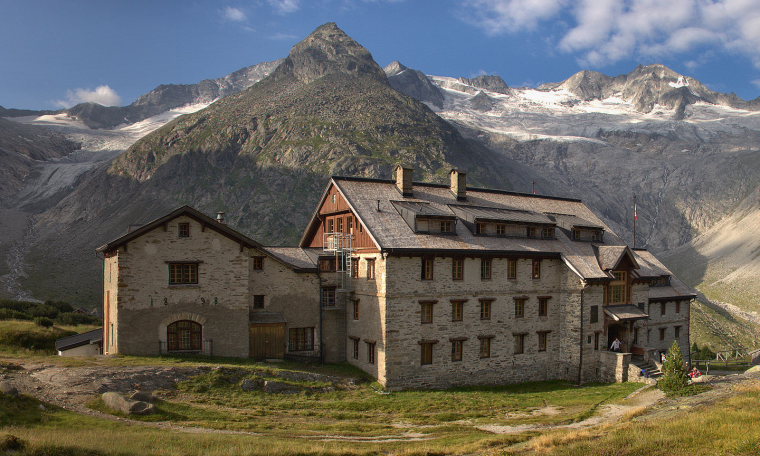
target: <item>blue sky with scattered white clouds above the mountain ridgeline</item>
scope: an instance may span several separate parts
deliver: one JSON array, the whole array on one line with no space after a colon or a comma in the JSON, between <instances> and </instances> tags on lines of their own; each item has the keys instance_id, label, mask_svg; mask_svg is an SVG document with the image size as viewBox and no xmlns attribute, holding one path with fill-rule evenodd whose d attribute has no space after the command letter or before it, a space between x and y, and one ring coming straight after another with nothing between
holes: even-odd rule
<instances>
[{"instance_id":1,"label":"blue sky with scattered white clouds above the mountain ridgeline","mask_svg":"<svg viewBox=\"0 0 760 456\"><path fill-rule=\"evenodd\" d=\"M0 105L129 104L284 57L329 21L428 74L520 86L664 63L760 95L758 0L0 0Z\"/></svg>"}]
</instances>

